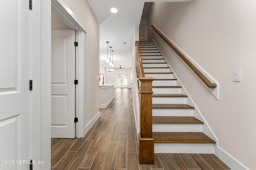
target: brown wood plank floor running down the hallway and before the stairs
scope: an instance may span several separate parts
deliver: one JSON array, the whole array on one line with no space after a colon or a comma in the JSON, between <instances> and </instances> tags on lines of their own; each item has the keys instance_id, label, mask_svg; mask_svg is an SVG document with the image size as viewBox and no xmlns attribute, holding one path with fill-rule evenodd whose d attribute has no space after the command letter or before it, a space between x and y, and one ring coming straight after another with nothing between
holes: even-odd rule
<instances>
[{"instance_id":1,"label":"brown wood plank floor running down the hallway and before the stairs","mask_svg":"<svg viewBox=\"0 0 256 170\"><path fill-rule=\"evenodd\" d=\"M155 154L154 165L138 163L131 90L116 88L113 102L84 138L52 139L54 170L230 170L214 154Z\"/></svg>"}]
</instances>

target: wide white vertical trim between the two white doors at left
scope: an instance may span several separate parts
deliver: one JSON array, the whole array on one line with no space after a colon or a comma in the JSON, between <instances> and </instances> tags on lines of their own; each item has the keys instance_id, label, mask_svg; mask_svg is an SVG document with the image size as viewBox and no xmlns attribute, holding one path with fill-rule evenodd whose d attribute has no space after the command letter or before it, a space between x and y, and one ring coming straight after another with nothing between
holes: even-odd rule
<instances>
[{"instance_id":1,"label":"wide white vertical trim between the two white doors at left","mask_svg":"<svg viewBox=\"0 0 256 170\"><path fill-rule=\"evenodd\" d=\"M29 10L29 9L28 9ZM51 2L38 0L30 10L30 159L34 169L51 167ZM38 161L42 161L38 164Z\"/></svg>"}]
</instances>

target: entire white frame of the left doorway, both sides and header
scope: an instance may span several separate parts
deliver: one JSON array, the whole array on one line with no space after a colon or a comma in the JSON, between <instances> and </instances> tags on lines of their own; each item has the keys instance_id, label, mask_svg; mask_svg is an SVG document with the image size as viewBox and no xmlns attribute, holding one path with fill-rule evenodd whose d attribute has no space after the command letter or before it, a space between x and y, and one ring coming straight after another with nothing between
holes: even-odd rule
<instances>
[{"instance_id":1,"label":"entire white frame of the left doorway, both sides and header","mask_svg":"<svg viewBox=\"0 0 256 170\"><path fill-rule=\"evenodd\" d=\"M78 53L78 137L84 136L84 57L85 34L76 16L64 4L62 0L37 0L33 2L30 10L30 75L33 80L33 90L30 92L30 159L41 161L41 164L33 164L34 169L45 170L51 167L51 6L56 2L60 13L69 17L69 26L72 23L77 29L80 27L77 38L80 46ZM29 10L29 8L28 8ZM69 12L70 13L69 13ZM77 23L77 24L75 24Z\"/></svg>"}]
</instances>

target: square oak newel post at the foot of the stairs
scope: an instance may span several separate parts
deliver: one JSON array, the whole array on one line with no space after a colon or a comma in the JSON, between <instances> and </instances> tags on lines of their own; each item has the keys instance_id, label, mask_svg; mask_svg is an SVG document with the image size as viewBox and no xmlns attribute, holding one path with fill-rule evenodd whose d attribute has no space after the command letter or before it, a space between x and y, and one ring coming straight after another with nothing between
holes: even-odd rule
<instances>
[{"instance_id":1,"label":"square oak newel post at the foot of the stairs","mask_svg":"<svg viewBox=\"0 0 256 170\"><path fill-rule=\"evenodd\" d=\"M154 139L152 138L152 81L154 79L138 78L140 80L140 164L154 164Z\"/></svg>"}]
</instances>

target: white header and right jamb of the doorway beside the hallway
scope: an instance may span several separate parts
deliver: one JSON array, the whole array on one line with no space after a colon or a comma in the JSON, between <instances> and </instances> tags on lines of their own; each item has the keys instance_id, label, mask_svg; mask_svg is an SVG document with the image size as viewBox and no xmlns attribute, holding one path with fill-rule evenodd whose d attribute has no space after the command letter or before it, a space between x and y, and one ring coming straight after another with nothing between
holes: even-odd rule
<instances>
[{"instance_id":1,"label":"white header and right jamb of the doorway beside the hallway","mask_svg":"<svg viewBox=\"0 0 256 170\"><path fill-rule=\"evenodd\" d=\"M76 31L76 41L78 47L76 47L76 117L78 122L76 123L76 137L84 137L85 125L84 125L84 96L85 96L85 34L86 29L82 22L72 13L70 8L62 0L52 0L52 11L64 21L71 29Z\"/></svg>"}]
</instances>

